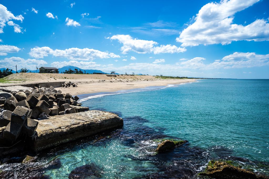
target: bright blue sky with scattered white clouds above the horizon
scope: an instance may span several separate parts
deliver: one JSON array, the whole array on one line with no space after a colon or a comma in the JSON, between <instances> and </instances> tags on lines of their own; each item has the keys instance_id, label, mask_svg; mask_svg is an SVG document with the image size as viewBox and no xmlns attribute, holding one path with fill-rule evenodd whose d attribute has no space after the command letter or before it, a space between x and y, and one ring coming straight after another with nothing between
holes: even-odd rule
<instances>
[{"instance_id":1,"label":"bright blue sky with scattered white clouds above the horizon","mask_svg":"<svg viewBox=\"0 0 269 179\"><path fill-rule=\"evenodd\" d=\"M0 68L269 78L269 1L0 1Z\"/></svg>"}]
</instances>

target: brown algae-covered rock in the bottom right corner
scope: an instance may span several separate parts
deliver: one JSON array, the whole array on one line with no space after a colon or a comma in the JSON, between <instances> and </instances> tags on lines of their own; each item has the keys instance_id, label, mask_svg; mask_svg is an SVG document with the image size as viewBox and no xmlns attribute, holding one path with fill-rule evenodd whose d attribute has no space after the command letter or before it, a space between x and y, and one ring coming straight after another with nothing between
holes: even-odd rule
<instances>
[{"instance_id":1,"label":"brown algae-covered rock in the bottom right corner","mask_svg":"<svg viewBox=\"0 0 269 179\"><path fill-rule=\"evenodd\" d=\"M211 160L206 171L200 173L201 176L208 176L216 179L237 179L237 178L248 178L248 179L269 179L269 177L256 174L252 171L241 169L232 165L231 161L216 161Z\"/></svg>"}]
</instances>

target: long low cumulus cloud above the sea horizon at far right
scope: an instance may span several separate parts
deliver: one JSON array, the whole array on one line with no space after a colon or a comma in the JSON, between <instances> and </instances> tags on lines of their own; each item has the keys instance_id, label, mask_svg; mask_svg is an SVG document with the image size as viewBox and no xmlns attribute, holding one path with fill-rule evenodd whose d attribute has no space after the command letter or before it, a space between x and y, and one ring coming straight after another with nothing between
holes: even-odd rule
<instances>
[{"instance_id":1,"label":"long low cumulus cloud above the sea horizon at far right","mask_svg":"<svg viewBox=\"0 0 269 179\"><path fill-rule=\"evenodd\" d=\"M256 55L255 53L239 53L235 52L231 55L225 56L220 61L215 61L210 64L204 64L205 58L196 57L185 62L176 63L182 68L188 69L231 69L231 68L244 68L244 67L259 67L269 65L269 54L267 55Z\"/></svg>"}]
</instances>

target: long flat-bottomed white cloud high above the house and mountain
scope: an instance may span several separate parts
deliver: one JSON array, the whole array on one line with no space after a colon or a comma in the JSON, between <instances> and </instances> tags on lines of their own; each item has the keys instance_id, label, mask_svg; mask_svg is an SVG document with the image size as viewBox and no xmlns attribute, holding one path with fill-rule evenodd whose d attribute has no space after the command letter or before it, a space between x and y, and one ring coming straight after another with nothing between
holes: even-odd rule
<instances>
[{"instance_id":1,"label":"long flat-bottomed white cloud high above the house and mountain","mask_svg":"<svg viewBox=\"0 0 269 179\"><path fill-rule=\"evenodd\" d=\"M34 58L44 58L44 56L48 56L51 54L56 57L68 58L69 60L94 60L96 58L120 58L119 55L115 55L114 53L109 52L101 52L99 50L94 49L79 49L79 48L69 48L65 50L52 50L49 47L36 47L31 48L29 55Z\"/></svg>"}]
</instances>

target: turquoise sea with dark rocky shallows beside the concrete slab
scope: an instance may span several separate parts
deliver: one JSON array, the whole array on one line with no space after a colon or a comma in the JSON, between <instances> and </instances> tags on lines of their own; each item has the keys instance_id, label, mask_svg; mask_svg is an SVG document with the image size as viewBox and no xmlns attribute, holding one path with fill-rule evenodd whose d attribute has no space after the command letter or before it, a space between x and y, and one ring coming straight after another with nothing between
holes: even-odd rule
<instances>
[{"instance_id":1,"label":"turquoise sea with dark rocky shallows beside the concrete slab","mask_svg":"<svg viewBox=\"0 0 269 179\"><path fill-rule=\"evenodd\" d=\"M8 178L201 178L210 160L269 175L269 80L203 79L79 95L121 128L0 166ZM158 140L186 143L156 153ZM11 177L10 177L11 176Z\"/></svg>"}]
</instances>

